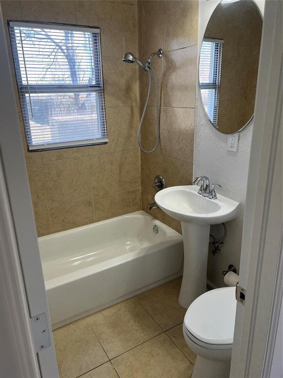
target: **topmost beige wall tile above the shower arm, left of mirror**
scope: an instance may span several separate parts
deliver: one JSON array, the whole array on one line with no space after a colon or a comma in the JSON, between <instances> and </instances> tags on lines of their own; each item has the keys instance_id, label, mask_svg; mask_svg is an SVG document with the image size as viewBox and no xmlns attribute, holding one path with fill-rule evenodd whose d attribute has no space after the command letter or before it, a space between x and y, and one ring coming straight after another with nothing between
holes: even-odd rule
<instances>
[{"instance_id":1,"label":"topmost beige wall tile above the shower arm, left of mirror","mask_svg":"<svg viewBox=\"0 0 283 378\"><path fill-rule=\"evenodd\" d=\"M164 1L164 51L198 44L198 1Z\"/></svg>"}]
</instances>

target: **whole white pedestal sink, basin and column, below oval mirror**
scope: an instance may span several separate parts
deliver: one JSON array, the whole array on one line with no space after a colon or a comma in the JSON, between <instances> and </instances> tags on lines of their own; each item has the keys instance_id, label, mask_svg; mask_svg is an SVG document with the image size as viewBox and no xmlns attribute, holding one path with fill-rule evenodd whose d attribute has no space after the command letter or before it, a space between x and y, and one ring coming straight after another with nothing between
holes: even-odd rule
<instances>
[{"instance_id":1,"label":"whole white pedestal sink, basin and column, below oval mirror","mask_svg":"<svg viewBox=\"0 0 283 378\"><path fill-rule=\"evenodd\" d=\"M184 241L184 273L179 295L183 307L206 291L206 270L211 224L235 219L239 203L217 194L209 199L198 194L198 186L179 186L155 194L157 205L171 217L181 221Z\"/></svg>"}]
</instances>

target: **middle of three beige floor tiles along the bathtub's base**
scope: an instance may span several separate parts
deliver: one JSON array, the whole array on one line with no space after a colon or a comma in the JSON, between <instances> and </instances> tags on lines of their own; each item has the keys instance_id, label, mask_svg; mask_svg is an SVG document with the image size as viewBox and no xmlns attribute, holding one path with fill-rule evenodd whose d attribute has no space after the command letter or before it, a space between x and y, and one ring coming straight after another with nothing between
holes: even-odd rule
<instances>
[{"instance_id":1,"label":"middle of three beige floor tiles along the bathtub's base","mask_svg":"<svg viewBox=\"0 0 283 378\"><path fill-rule=\"evenodd\" d=\"M90 315L87 321L110 359L162 332L136 298Z\"/></svg>"}]
</instances>

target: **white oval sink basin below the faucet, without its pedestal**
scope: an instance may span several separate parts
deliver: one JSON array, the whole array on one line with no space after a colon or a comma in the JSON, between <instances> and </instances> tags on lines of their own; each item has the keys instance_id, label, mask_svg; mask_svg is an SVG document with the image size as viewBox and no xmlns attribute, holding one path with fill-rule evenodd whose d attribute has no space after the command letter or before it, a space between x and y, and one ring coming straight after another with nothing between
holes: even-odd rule
<instances>
[{"instance_id":1,"label":"white oval sink basin below the faucet, without its pedestal","mask_svg":"<svg viewBox=\"0 0 283 378\"><path fill-rule=\"evenodd\" d=\"M160 190L157 205L178 221L197 224L219 224L231 221L238 214L239 203L223 195L209 199L198 194L198 186L180 186Z\"/></svg>"}]
</instances>

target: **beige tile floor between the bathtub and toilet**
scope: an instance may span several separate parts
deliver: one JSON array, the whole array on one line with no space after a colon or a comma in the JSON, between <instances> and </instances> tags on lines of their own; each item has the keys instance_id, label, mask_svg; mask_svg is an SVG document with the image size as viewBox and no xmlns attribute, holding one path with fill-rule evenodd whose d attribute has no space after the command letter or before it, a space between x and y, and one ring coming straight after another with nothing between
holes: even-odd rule
<instances>
[{"instance_id":1,"label":"beige tile floor between the bathtub and toilet","mask_svg":"<svg viewBox=\"0 0 283 378\"><path fill-rule=\"evenodd\" d=\"M190 378L180 278L53 332L60 378Z\"/></svg>"}]
</instances>

